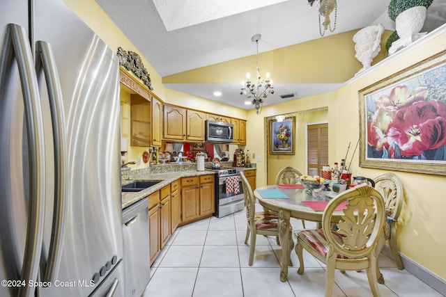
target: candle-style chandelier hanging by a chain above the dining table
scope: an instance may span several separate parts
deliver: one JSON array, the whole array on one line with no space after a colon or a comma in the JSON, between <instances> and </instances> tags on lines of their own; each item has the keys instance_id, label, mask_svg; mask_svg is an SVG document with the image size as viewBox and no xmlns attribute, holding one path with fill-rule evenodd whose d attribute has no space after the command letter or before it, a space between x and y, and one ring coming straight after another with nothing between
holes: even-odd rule
<instances>
[{"instance_id":1,"label":"candle-style chandelier hanging by a chain above the dining table","mask_svg":"<svg viewBox=\"0 0 446 297\"><path fill-rule=\"evenodd\" d=\"M256 42L257 55L256 55L256 81L249 80L249 73L246 74L247 82L245 84L242 81L242 88L240 95L245 95L256 109L256 113L259 114L262 111L263 99L266 99L268 95L274 94L274 88L272 87L272 81L270 81L270 74L266 73L266 81L263 81L260 77L259 70L259 40L262 37L260 34L252 36L252 42Z\"/></svg>"}]
</instances>

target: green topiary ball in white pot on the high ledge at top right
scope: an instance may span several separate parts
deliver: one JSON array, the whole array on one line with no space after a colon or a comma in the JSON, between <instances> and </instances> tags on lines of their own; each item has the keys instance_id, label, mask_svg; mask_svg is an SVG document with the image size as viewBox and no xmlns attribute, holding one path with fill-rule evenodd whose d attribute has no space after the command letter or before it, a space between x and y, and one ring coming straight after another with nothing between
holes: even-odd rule
<instances>
[{"instance_id":1,"label":"green topiary ball in white pot on the high ledge at top right","mask_svg":"<svg viewBox=\"0 0 446 297\"><path fill-rule=\"evenodd\" d=\"M386 49L389 54L394 54L397 50L410 45L422 35L420 33L426 10L431 6L433 0L391 0L388 14L395 22L397 30L389 36Z\"/></svg>"}]
</instances>

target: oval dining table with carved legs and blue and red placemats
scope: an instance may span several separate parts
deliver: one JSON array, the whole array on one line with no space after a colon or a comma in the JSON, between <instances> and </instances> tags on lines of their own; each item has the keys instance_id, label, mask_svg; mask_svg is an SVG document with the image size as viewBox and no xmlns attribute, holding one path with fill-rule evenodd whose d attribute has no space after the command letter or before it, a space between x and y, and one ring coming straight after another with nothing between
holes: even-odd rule
<instances>
[{"instance_id":1,"label":"oval dining table with carved legs and blue and red placemats","mask_svg":"<svg viewBox=\"0 0 446 297\"><path fill-rule=\"evenodd\" d=\"M302 184L274 184L261 186L254 190L254 197L263 208L276 211L279 214L279 243L282 247L282 263L280 280L288 278L288 264L294 247L290 226L290 218L322 222L325 206L337 193L332 191L310 191ZM339 215L337 215L337 213ZM339 223L343 212L335 211L332 223Z\"/></svg>"}]
</instances>

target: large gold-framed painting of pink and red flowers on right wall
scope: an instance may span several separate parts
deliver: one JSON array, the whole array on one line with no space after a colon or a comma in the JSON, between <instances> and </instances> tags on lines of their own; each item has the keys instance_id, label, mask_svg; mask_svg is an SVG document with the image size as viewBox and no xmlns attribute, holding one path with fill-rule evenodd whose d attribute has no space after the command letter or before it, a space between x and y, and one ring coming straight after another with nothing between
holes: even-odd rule
<instances>
[{"instance_id":1,"label":"large gold-framed painting of pink and red flowers on right wall","mask_svg":"<svg viewBox=\"0 0 446 297\"><path fill-rule=\"evenodd\" d=\"M446 175L446 51L359 92L360 166Z\"/></svg>"}]
</instances>

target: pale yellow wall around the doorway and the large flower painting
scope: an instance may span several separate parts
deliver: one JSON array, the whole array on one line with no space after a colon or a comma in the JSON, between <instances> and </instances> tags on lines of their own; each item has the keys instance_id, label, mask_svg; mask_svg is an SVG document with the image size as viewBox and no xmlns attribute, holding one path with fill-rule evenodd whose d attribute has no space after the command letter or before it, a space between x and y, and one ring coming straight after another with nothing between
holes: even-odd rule
<instances>
[{"instance_id":1,"label":"pale yellow wall around the doorway and the large flower painting","mask_svg":"<svg viewBox=\"0 0 446 297\"><path fill-rule=\"evenodd\" d=\"M264 127L265 133L263 134L253 130L254 125L262 125L264 118L287 114L291 111L301 112L328 106L330 164L344 158L349 142L351 143L349 152L351 156L352 148L354 149L360 135L358 90L410 67L424 58L444 51L445 45L446 33L442 33L424 45L406 51L405 54L401 54L390 63L380 63L382 66L377 65L376 69L367 75L351 81L335 92L297 99L275 106L263 106L261 116L249 112L247 143L251 147L250 152L266 156L266 138L259 137L259 135L262 136L268 130ZM305 141L299 137L296 139L298 143ZM347 158L348 162L350 156ZM300 156L295 156L295 158L300 159ZM296 163L299 162L296 161ZM266 184L266 162L258 162L257 168L257 185ZM351 163L351 169L354 175L371 178L385 172L359 167L359 147ZM443 236L444 232L442 231L446 225L444 211L446 199L443 193L446 177L397 170L394 173L398 175L404 186L403 209L397 223L399 251L428 271L446 279L446 254L444 252L446 236Z\"/></svg>"}]
</instances>

